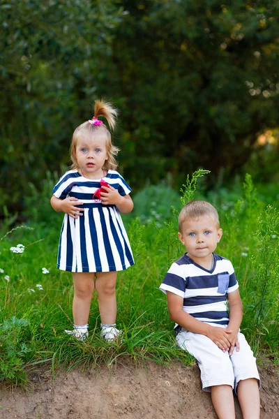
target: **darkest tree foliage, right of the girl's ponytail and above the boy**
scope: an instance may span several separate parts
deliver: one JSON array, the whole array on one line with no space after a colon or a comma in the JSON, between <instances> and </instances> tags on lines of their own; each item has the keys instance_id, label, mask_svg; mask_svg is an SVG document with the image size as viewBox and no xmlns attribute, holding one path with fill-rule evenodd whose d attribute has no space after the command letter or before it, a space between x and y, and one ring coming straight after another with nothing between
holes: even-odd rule
<instances>
[{"instance_id":1,"label":"darkest tree foliage, right of the girl's ponytail and above the boy","mask_svg":"<svg viewBox=\"0 0 279 419\"><path fill-rule=\"evenodd\" d=\"M278 126L278 2L122 3L113 50L132 183L137 166L153 182L199 166L232 176Z\"/></svg>"}]
</instances>

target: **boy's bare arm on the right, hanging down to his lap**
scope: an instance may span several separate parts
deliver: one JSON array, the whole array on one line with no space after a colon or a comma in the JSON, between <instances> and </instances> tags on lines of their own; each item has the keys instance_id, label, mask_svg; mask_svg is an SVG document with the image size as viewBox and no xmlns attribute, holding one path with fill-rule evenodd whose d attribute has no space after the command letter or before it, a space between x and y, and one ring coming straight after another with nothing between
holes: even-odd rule
<instances>
[{"instance_id":1,"label":"boy's bare arm on the right, hanging down to his lap","mask_svg":"<svg viewBox=\"0 0 279 419\"><path fill-rule=\"evenodd\" d=\"M237 339L237 333L239 332L239 327L243 317L242 301L239 290L228 293L227 299L229 301L229 324L227 325L227 329L232 330L232 333L229 336L229 355L232 355L234 346L236 346L236 351L239 351L239 339Z\"/></svg>"}]
</instances>

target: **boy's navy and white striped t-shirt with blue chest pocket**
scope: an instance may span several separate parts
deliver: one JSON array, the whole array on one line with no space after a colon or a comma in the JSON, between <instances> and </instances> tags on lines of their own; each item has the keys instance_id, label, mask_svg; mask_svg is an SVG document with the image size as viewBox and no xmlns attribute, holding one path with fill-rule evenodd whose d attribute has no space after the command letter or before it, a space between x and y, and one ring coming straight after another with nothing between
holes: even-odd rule
<instances>
[{"instance_id":1,"label":"boy's navy and white striped t-shirt with blue chest pocket","mask_svg":"<svg viewBox=\"0 0 279 419\"><path fill-rule=\"evenodd\" d=\"M169 291L183 297L183 311L199 321L215 325L229 323L227 294L237 288L239 284L232 263L215 253L211 270L197 265L185 253L172 264L160 285L163 293Z\"/></svg>"}]
</instances>

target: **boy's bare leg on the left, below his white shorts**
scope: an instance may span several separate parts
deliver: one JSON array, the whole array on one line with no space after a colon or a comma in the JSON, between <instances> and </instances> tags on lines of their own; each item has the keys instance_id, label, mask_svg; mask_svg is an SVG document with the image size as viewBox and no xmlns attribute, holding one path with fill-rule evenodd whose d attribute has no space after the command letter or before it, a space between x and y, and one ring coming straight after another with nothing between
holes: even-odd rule
<instances>
[{"instance_id":1,"label":"boy's bare leg on the left, below his white shorts","mask_svg":"<svg viewBox=\"0 0 279 419\"><path fill-rule=\"evenodd\" d=\"M213 385L211 400L219 419L235 419L234 395L230 385Z\"/></svg>"}]
</instances>

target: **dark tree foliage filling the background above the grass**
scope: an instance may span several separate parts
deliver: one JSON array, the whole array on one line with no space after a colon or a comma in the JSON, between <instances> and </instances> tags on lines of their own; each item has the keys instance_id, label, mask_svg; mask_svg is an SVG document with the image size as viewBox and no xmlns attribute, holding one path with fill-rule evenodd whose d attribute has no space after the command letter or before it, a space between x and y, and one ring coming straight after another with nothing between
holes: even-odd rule
<instances>
[{"instance_id":1,"label":"dark tree foliage filling the background above the grass","mask_svg":"<svg viewBox=\"0 0 279 419\"><path fill-rule=\"evenodd\" d=\"M73 130L107 97L135 191L211 170L278 182L276 0L2 0L0 212L68 165ZM259 138L262 138L259 141Z\"/></svg>"}]
</instances>

